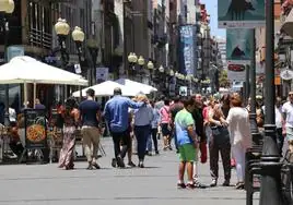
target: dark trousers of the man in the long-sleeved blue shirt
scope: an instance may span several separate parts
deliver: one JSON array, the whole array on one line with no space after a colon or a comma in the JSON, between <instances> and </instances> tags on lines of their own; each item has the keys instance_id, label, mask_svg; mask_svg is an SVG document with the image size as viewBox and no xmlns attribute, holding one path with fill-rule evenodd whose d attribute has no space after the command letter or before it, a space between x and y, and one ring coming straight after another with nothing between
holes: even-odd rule
<instances>
[{"instance_id":1,"label":"dark trousers of the man in the long-sleeved blue shirt","mask_svg":"<svg viewBox=\"0 0 293 205\"><path fill-rule=\"evenodd\" d=\"M113 143L114 143L114 153L115 158L121 157L125 158L127 150L131 146L130 134L129 131L126 130L124 132L112 132ZM122 149L120 149L120 145L122 144Z\"/></svg>"}]
</instances>

